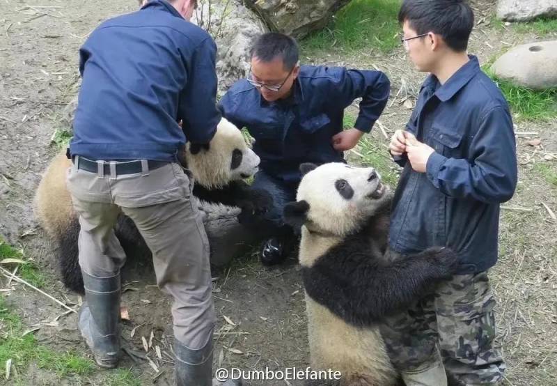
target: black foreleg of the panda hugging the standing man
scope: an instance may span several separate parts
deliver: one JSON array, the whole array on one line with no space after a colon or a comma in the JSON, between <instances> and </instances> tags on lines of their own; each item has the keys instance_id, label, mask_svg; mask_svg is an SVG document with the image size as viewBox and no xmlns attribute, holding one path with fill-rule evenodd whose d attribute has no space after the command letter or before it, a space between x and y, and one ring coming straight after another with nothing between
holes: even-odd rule
<instances>
[{"instance_id":1,"label":"black foreleg of the panda hugging the standing man","mask_svg":"<svg viewBox=\"0 0 557 386\"><path fill-rule=\"evenodd\" d=\"M302 275L308 295L347 323L357 326L382 321L409 307L442 279L448 279L457 257L450 249L382 263L368 243L345 242L332 248Z\"/></svg>"}]
</instances>

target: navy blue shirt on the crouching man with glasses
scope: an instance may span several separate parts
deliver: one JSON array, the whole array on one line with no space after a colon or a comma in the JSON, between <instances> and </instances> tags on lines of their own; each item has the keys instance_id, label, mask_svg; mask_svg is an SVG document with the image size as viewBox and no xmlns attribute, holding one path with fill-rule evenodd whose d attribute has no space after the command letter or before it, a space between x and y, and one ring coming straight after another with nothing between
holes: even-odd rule
<instances>
[{"instance_id":1,"label":"navy blue shirt on the crouching man with glasses","mask_svg":"<svg viewBox=\"0 0 557 386\"><path fill-rule=\"evenodd\" d=\"M383 72L302 65L290 98L266 102L242 79L220 101L223 116L246 127L260 167L285 183L299 183L302 162L343 162L332 137L343 130L344 109L362 98L355 128L369 132L389 98Z\"/></svg>"}]
</instances>

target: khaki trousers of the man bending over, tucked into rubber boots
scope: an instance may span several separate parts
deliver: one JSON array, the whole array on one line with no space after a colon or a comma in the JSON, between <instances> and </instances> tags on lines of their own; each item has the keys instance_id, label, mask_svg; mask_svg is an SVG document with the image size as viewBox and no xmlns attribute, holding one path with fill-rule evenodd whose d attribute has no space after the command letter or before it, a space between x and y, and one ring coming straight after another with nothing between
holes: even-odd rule
<instances>
[{"instance_id":1,"label":"khaki trousers of the man bending over, tucked into rubber boots","mask_svg":"<svg viewBox=\"0 0 557 386\"><path fill-rule=\"evenodd\" d=\"M157 284L172 295L174 335L192 350L212 337L209 243L191 200L193 181L176 163L136 174L68 169L67 185L79 214L79 265L88 275L111 277L125 263L114 233L118 215L130 217L152 252ZM102 172L102 168L100 168ZM133 258L133 256L132 256Z\"/></svg>"}]
</instances>

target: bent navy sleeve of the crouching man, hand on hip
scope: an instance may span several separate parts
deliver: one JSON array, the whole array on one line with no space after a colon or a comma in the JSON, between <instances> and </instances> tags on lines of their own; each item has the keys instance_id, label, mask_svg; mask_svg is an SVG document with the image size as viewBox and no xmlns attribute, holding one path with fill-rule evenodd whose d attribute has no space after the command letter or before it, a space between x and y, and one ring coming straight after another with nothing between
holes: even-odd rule
<instances>
[{"instance_id":1,"label":"bent navy sleeve of the crouching man, hand on hip","mask_svg":"<svg viewBox=\"0 0 557 386\"><path fill-rule=\"evenodd\" d=\"M336 73L331 100L346 108L356 98L362 98L354 128L370 132L383 112L390 93L391 83L383 72L342 68Z\"/></svg>"}]
</instances>

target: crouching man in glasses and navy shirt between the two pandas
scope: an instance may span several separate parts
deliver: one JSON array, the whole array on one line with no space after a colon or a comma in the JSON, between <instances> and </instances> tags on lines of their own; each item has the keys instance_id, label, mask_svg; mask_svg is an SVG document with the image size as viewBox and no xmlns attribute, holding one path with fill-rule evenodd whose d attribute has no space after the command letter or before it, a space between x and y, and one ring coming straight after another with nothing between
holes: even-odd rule
<instances>
[{"instance_id":1,"label":"crouching man in glasses and navy shirt between the two pandas","mask_svg":"<svg viewBox=\"0 0 557 386\"><path fill-rule=\"evenodd\" d=\"M261 158L254 187L272 194L274 207L263 218L240 222L268 238L260 258L265 265L283 261L294 245L283 207L295 201L303 162L344 162L350 150L382 113L389 98L383 72L298 64L294 39L265 33L253 45L251 70L220 102L221 112L256 139ZM354 128L343 131L344 109L362 98Z\"/></svg>"}]
</instances>

